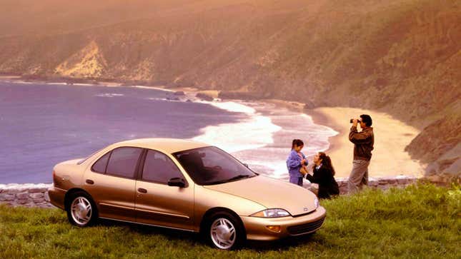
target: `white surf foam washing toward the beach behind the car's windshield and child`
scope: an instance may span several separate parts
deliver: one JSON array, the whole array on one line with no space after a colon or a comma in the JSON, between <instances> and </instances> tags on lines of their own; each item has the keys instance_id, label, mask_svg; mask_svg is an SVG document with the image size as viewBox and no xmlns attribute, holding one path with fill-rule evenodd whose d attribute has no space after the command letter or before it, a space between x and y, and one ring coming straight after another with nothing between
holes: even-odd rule
<instances>
[{"instance_id":1,"label":"white surf foam washing toward the beach behind the car's windshield and child","mask_svg":"<svg viewBox=\"0 0 461 259\"><path fill-rule=\"evenodd\" d=\"M199 102L225 111L244 113L248 117L237 123L207 126L202 128L200 136L192 139L218 146L248 163L258 173L274 178L287 178L285 161L293 138L301 138L306 143L302 152L312 157L319 151L326 151L329 148L328 138L338 134L332 128L314 124L307 114L280 110L262 103ZM263 110L267 116L258 112ZM276 133L277 142L274 143Z\"/></svg>"}]
</instances>

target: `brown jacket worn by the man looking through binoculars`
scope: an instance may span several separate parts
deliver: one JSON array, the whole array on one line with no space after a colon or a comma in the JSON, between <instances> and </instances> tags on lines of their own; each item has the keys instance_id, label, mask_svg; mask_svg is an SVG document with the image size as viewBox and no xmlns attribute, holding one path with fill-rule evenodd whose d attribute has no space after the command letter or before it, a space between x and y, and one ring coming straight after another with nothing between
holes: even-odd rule
<instances>
[{"instance_id":1,"label":"brown jacket worn by the man looking through binoculars","mask_svg":"<svg viewBox=\"0 0 461 259\"><path fill-rule=\"evenodd\" d=\"M349 140L355 144L354 160L370 161L372 158L373 145L375 144L375 135L373 128L368 127L358 132L357 127L350 128Z\"/></svg>"}]
</instances>

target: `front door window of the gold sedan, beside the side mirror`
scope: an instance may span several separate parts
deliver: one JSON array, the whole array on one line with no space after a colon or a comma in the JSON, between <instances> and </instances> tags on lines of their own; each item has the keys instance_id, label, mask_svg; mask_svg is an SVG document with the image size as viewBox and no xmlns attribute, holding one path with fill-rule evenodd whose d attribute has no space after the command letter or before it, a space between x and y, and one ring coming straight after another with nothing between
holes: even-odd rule
<instances>
[{"instance_id":1,"label":"front door window of the gold sedan, beside the side mirror","mask_svg":"<svg viewBox=\"0 0 461 259\"><path fill-rule=\"evenodd\" d=\"M158 151L147 151L142 180L166 184L175 177L183 178L179 168L168 156Z\"/></svg>"}]
</instances>

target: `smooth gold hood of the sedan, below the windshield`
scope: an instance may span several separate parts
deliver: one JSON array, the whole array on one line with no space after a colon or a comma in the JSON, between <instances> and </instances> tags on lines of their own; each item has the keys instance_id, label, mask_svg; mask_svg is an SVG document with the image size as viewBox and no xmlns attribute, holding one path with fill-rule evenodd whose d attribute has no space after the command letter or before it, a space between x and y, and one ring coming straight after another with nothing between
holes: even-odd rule
<instances>
[{"instance_id":1,"label":"smooth gold hood of the sedan, below the windshield","mask_svg":"<svg viewBox=\"0 0 461 259\"><path fill-rule=\"evenodd\" d=\"M317 209L314 203L316 196L311 191L267 176L255 176L204 188L237 195L266 208L283 208L291 215L305 214Z\"/></svg>"}]
</instances>

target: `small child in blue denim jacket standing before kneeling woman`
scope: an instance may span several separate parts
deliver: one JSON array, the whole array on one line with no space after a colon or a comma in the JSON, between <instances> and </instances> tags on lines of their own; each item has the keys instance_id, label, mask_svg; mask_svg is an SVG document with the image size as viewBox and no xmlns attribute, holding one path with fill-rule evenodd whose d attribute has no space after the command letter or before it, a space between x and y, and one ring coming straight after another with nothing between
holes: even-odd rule
<instances>
[{"instance_id":1,"label":"small child in blue denim jacket standing before kneeling woman","mask_svg":"<svg viewBox=\"0 0 461 259\"><path fill-rule=\"evenodd\" d=\"M292 142L292 151L287 158L287 168L289 173L289 182L302 186L302 178L307 173L305 166L308 162L306 156L301 152L304 142L300 139L294 139Z\"/></svg>"}]
</instances>

